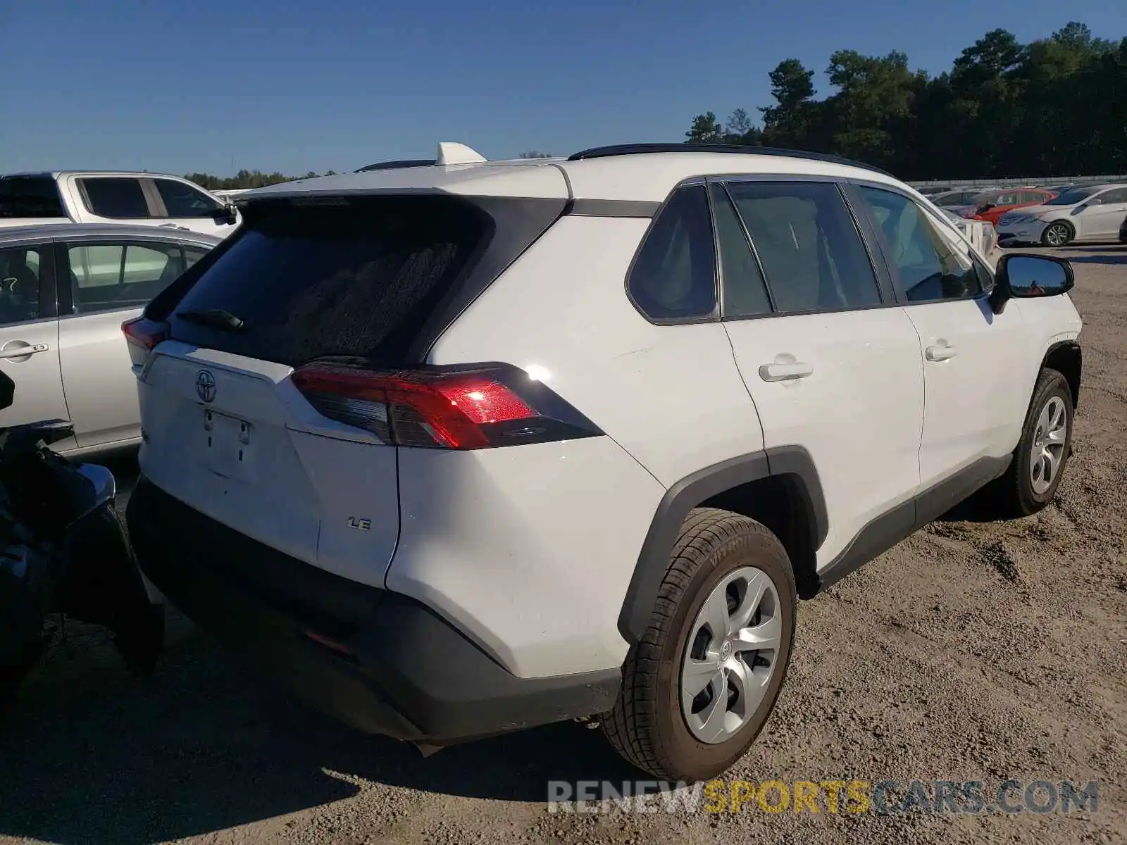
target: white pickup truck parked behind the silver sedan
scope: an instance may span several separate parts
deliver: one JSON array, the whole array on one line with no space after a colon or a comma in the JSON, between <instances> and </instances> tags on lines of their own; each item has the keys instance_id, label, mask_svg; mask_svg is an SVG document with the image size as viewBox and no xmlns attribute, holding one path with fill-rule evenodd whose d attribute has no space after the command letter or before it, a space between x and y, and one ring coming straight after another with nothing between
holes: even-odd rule
<instances>
[{"instance_id":1,"label":"white pickup truck parked behind the silver sedan","mask_svg":"<svg viewBox=\"0 0 1127 845\"><path fill-rule=\"evenodd\" d=\"M240 220L230 201L179 176L78 170L0 176L0 228L133 223L225 238Z\"/></svg>"}]
</instances>

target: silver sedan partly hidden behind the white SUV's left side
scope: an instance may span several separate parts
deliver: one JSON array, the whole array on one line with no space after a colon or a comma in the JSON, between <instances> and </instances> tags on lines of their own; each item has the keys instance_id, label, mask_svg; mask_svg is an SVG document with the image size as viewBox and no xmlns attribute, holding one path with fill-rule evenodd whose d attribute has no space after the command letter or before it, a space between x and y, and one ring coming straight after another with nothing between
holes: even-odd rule
<instances>
[{"instance_id":1,"label":"silver sedan partly hidden behind the white SUV's left side","mask_svg":"<svg viewBox=\"0 0 1127 845\"><path fill-rule=\"evenodd\" d=\"M0 230L0 426L69 420L70 454L141 442L122 322L221 242L185 229L59 224Z\"/></svg>"}]
</instances>

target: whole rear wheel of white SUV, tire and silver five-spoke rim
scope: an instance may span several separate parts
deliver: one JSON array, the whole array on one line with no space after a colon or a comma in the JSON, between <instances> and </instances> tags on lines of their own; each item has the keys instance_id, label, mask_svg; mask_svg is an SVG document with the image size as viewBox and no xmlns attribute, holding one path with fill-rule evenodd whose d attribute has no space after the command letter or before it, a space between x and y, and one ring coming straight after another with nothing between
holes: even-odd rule
<instances>
[{"instance_id":1,"label":"whole rear wheel of white SUV, tire and silver five-spoke rim","mask_svg":"<svg viewBox=\"0 0 1127 845\"><path fill-rule=\"evenodd\" d=\"M603 721L611 745L667 780L703 780L731 766L779 696L796 601L774 534L726 510L692 510Z\"/></svg>"}]
</instances>

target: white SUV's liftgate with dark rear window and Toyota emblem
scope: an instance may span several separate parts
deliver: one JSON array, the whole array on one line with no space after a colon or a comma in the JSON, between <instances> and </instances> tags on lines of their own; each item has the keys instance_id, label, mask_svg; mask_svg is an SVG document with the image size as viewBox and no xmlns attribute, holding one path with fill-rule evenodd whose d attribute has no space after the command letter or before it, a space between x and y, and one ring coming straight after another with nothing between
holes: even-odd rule
<instances>
[{"instance_id":1,"label":"white SUV's liftgate with dark rear window and Toyota emblem","mask_svg":"<svg viewBox=\"0 0 1127 845\"><path fill-rule=\"evenodd\" d=\"M453 197L259 212L171 313L148 312L172 339L139 385L142 471L259 542L381 585L399 533L396 447L317 412L290 375L326 356L401 364L491 231Z\"/></svg>"}]
</instances>

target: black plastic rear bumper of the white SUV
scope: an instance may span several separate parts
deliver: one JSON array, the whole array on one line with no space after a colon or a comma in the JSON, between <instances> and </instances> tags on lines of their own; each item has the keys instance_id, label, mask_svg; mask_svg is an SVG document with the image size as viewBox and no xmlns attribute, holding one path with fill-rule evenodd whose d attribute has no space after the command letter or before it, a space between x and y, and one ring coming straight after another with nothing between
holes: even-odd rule
<instances>
[{"instance_id":1,"label":"black plastic rear bumper of the white SUV","mask_svg":"<svg viewBox=\"0 0 1127 845\"><path fill-rule=\"evenodd\" d=\"M605 712L618 695L613 669L518 678L421 603L283 554L143 477L126 517L172 604L365 732L451 742Z\"/></svg>"}]
</instances>

